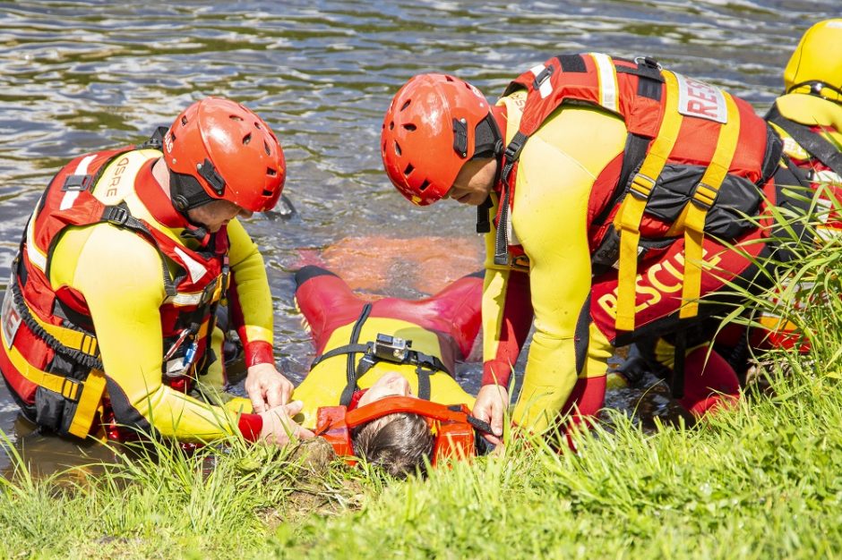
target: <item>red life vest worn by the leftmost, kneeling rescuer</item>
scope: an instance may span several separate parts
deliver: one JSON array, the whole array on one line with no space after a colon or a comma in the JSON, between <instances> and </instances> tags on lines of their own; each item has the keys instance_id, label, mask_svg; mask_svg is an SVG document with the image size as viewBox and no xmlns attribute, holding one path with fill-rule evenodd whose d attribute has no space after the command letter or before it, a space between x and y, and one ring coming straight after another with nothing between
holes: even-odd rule
<instances>
[{"instance_id":1,"label":"red life vest worn by the leftmost, kneeling rescuer","mask_svg":"<svg viewBox=\"0 0 842 560\"><path fill-rule=\"evenodd\" d=\"M159 189L150 170L161 153L151 146L88 154L66 165L39 200L12 267L0 325L0 369L24 412L59 434L87 436L98 410L103 404L107 408L105 374L84 295L67 286L54 290L49 282L52 252L68 227L108 223L150 242L160 253L167 293L160 307L167 354L163 380L186 391L195 373L208 365L214 311L228 288L228 236L225 229L213 236L199 230L202 247L191 250L175 232L136 217L155 216L155 208L133 196ZM112 187L127 182L129 196L114 199Z\"/></svg>"}]
</instances>

